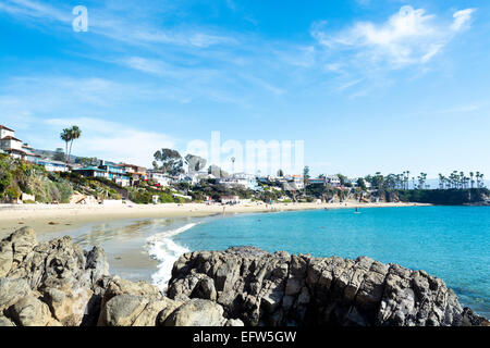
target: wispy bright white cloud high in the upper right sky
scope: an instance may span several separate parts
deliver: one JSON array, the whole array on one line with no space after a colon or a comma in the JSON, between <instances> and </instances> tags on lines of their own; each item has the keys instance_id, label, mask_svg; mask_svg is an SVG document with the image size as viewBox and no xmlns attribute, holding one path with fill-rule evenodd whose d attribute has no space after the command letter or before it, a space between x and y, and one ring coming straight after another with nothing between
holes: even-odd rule
<instances>
[{"instance_id":1,"label":"wispy bright white cloud high in the upper right sky","mask_svg":"<svg viewBox=\"0 0 490 348\"><path fill-rule=\"evenodd\" d=\"M404 5L384 23L357 22L340 32L328 33L326 22L315 23L311 35L329 50L339 50L351 58L390 69L429 62L454 37L468 27L473 9L454 13L452 24L444 24L424 9ZM347 55L348 57L348 55ZM345 57L344 57L345 59Z\"/></svg>"}]
</instances>

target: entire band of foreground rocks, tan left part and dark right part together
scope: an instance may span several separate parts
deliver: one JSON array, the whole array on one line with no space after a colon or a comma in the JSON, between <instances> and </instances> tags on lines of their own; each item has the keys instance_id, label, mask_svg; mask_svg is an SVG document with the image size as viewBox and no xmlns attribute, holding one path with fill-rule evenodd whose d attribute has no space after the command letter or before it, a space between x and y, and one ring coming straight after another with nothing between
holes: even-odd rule
<instances>
[{"instance_id":1,"label":"entire band of foreground rocks, tan left part and dark right part together","mask_svg":"<svg viewBox=\"0 0 490 348\"><path fill-rule=\"evenodd\" d=\"M183 254L167 296L70 237L0 241L0 326L488 325L443 281L369 258L253 248Z\"/></svg>"}]
</instances>

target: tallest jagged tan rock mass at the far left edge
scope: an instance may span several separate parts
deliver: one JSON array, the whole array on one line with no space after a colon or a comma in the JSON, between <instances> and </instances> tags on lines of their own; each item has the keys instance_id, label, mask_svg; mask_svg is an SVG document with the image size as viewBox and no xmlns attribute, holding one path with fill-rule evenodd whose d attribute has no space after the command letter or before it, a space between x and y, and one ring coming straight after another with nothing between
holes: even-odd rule
<instances>
[{"instance_id":1,"label":"tallest jagged tan rock mass at the far left edge","mask_svg":"<svg viewBox=\"0 0 490 348\"><path fill-rule=\"evenodd\" d=\"M34 229L28 227L15 231L0 245L0 260L9 261L12 254L10 266L0 268L7 275L0 279L0 309L33 294L38 299L30 299L28 308L38 301L47 304L54 318L50 324L76 326L98 318L99 307L94 303L100 297L101 278L109 274L103 250L94 247L84 253L70 237L36 244ZM40 313L45 309L35 308Z\"/></svg>"}]
</instances>

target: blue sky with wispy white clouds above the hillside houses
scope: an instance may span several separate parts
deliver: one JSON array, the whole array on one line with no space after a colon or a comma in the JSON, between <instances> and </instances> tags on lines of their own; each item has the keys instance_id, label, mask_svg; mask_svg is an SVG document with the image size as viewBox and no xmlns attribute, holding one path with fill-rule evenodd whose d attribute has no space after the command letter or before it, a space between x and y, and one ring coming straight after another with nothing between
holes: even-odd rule
<instances>
[{"instance_id":1,"label":"blue sky with wispy white clouds above the hillside houses","mask_svg":"<svg viewBox=\"0 0 490 348\"><path fill-rule=\"evenodd\" d=\"M75 5L88 32L72 28ZM0 124L149 165L193 139L305 140L314 174L490 175L488 1L0 1Z\"/></svg>"}]
</instances>

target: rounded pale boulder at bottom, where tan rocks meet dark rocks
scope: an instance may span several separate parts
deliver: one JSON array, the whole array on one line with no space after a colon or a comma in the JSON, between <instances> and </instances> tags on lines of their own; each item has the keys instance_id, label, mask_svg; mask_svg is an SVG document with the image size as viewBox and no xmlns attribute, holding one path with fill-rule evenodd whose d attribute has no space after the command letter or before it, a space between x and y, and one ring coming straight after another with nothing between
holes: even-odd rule
<instances>
[{"instance_id":1,"label":"rounded pale boulder at bottom, where tan rocks meet dark rocks","mask_svg":"<svg viewBox=\"0 0 490 348\"><path fill-rule=\"evenodd\" d=\"M223 308L209 300L192 299L167 318L164 326L223 326Z\"/></svg>"}]
</instances>

